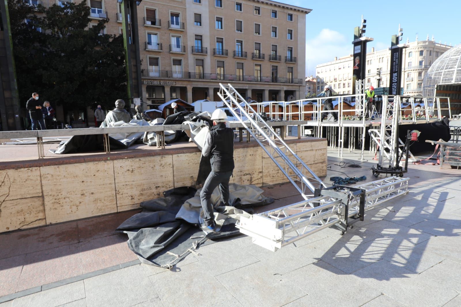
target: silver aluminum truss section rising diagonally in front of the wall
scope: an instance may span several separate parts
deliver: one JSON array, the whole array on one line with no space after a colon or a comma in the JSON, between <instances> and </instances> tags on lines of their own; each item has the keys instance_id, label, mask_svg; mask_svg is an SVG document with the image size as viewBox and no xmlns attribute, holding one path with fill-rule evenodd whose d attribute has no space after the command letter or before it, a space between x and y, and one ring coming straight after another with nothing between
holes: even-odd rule
<instances>
[{"instance_id":1,"label":"silver aluminum truss section rising diagonally in front of the wall","mask_svg":"<svg viewBox=\"0 0 461 307\"><path fill-rule=\"evenodd\" d=\"M312 197L315 190L309 179L316 181L322 187L326 187L325 183L296 155L231 84L225 87L219 83L219 86L219 97L304 199L307 200Z\"/></svg>"}]
</instances>

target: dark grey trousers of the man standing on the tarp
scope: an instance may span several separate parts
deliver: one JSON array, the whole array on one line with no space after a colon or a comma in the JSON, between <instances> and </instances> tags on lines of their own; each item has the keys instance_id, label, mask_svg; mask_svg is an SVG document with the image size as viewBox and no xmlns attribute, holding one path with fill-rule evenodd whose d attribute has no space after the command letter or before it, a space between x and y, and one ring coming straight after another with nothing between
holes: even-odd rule
<instances>
[{"instance_id":1,"label":"dark grey trousers of the man standing on the tarp","mask_svg":"<svg viewBox=\"0 0 461 307\"><path fill-rule=\"evenodd\" d=\"M211 195L214 189L219 185L221 192L221 201L225 206L229 205L229 179L232 176L232 171L214 172L211 171L203 184L200 192L200 201L203 208L203 224L205 226L214 225L213 205L211 203Z\"/></svg>"}]
</instances>

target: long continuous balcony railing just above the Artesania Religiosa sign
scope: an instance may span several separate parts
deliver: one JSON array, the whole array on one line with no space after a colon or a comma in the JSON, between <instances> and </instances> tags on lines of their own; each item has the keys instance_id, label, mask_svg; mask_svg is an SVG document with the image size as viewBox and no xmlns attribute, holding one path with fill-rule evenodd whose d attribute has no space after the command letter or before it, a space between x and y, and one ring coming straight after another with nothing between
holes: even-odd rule
<instances>
[{"instance_id":1,"label":"long continuous balcony railing just above the Artesania Religiosa sign","mask_svg":"<svg viewBox=\"0 0 461 307\"><path fill-rule=\"evenodd\" d=\"M264 82L264 83L292 83L302 84L302 79L285 78L285 77L260 77L260 76L245 76L245 75L230 75L216 74L203 72L188 72L188 71L160 71L142 69L142 77L160 77L173 79L205 79L205 80L226 80L226 81L242 81L242 82Z\"/></svg>"}]
</instances>

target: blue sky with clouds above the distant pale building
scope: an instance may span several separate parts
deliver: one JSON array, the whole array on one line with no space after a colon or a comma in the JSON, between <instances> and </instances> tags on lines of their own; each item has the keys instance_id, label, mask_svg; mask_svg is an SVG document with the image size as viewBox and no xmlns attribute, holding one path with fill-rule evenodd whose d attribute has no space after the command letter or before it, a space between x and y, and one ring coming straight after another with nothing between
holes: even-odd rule
<instances>
[{"instance_id":1,"label":"blue sky with clouds above the distant pale building","mask_svg":"<svg viewBox=\"0 0 461 307\"><path fill-rule=\"evenodd\" d=\"M403 28L402 41L426 40L455 46L461 43L461 0L381 0L381 1L310 1L278 0L312 9L306 18L306 75L315 66L352 53L354 27L366 19L366 36L374 38L367 44L382 50L390 46L391 35ZM375 5L378 3L378 5ZM357 6L354 4L360 4Z\"/></svg>"}]
</instances>

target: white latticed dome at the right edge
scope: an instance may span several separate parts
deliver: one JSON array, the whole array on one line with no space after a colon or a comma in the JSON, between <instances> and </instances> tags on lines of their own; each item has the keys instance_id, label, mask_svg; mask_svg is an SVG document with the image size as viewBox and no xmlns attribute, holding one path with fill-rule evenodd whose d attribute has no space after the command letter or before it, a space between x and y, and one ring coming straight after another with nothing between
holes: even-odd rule
<instances>
[{"instance_id":1,"label":"white latticed dome at the right edge","mask_svg":"<svg viewBox=\"0 0 461 307\"><path fill-rule=\"evenodd\" d=\"M461 112L461 44L431 65L423 80L423 95L449 97L452 114Z\"/></svg>"}]
</instances>

